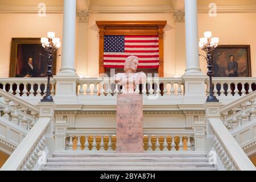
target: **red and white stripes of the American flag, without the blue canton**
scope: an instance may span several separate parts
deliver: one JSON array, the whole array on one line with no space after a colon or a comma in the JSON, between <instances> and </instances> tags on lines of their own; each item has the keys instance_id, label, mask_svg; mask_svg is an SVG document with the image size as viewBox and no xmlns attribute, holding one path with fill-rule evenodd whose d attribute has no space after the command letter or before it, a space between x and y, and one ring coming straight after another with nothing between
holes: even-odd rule
<instances>
[{"instance_id":1,"label":"red and white stripes of the American flag, without the blue canton","mask_svg":"<svg viewBox=\"0 0 256 182\"><path fill-rule=\"evenodd\" d=\"M158 36L125 36L125 52L104 52L104 67L123 68L128 56L139 57L138 68L158 68Z\"/></svg>"}]
</instances>

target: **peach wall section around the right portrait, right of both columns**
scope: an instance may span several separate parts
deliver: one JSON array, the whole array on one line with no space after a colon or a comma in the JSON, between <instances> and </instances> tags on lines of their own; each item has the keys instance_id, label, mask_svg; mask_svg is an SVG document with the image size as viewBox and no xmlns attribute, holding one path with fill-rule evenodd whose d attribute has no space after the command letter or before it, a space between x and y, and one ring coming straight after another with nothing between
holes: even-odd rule
<instances>
[{"instance_id":1,"label":"peach wall section around the right portrait, right of both columns","mask_svg":"<svg viewBox=\"0 0 256 182\"><path fill-rule=\"evenodd\" d=\"M218 13L216 17L199 14L199 37L204 31L212 31L220 38L220 45L250 45L251 74L256 77L256 14L255 13ZM203 53L203 51L200 51ZM207 73L207 63L200 57L200 67Z\"/></svg>"}]
</instances>

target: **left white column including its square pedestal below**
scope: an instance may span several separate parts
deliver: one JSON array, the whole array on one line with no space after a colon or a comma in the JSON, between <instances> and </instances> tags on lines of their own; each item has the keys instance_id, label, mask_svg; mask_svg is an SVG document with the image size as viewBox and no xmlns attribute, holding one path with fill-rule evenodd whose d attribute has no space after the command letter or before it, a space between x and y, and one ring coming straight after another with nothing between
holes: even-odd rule
<instances>
[{"instance_id":1,"label":"left white column including its square pedestal below","mask_svg":"<svg viewBox=\"0 0 256 182\"><path fill-rule=\"evenodd\" d=\"M53 100L56 104L77 103L77 81L75 70L76 42L76 0L64 0L63 47L61 69L56 80L56 93Z\"/></svg>"}]
</instances>

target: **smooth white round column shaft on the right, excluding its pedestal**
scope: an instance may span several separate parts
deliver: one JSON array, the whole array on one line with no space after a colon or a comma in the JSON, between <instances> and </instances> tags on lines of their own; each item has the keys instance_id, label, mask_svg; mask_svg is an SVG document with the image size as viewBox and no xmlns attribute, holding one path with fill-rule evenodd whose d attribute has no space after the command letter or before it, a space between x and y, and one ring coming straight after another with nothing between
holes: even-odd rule
<instances>
[{"instance_id":1,"label":"smooth white round column shaft on the right, excluding its pedestal","mask_svg":"<svg viewBox=\"0 0 256 182\"><path fill-rule=\"evenodd\" d=\"M201 73L197 27L197 0L185 0L186 60L185 75Z\"/></svg>"}]
</instances>

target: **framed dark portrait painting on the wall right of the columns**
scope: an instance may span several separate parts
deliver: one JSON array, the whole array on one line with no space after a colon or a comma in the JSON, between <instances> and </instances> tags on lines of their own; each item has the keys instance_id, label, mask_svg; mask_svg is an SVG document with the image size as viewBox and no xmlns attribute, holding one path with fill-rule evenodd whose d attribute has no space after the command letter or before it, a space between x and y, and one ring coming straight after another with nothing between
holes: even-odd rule
<instances>
[{"instance_id":1,"label":"framed dark portrait painting on the wall right of the columns","mask_svg":"<svg viewBox=\"0 0 256 182\"><path fill-rule=\"evenodd\" d=\"M249 45L220 45L213 51L214 77L251 77Z\"/></svg>"}]
</instances>

